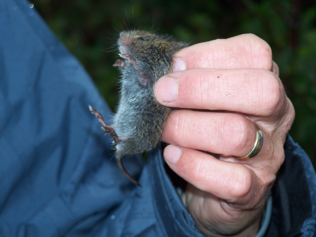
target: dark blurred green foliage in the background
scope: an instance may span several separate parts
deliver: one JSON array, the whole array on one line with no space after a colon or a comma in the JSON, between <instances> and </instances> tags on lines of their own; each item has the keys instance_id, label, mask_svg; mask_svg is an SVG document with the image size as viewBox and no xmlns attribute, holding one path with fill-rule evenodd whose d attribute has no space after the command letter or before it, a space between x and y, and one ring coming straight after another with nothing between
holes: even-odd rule
<instances>
[{"instance_id":1,"label":"dark blurred green foliage in the background","mask_svg":"<svg viewBox=\"0 0 316 237\"><path fill-rule=\"evenodd\" d=\"M156 29L191 44L253 33L272 47L296 110L290 130L316 164L314 0L33 0L35 8L94 79L112 109L118 101L116 40L121 30Z\"/></svg>"}]
</instances>

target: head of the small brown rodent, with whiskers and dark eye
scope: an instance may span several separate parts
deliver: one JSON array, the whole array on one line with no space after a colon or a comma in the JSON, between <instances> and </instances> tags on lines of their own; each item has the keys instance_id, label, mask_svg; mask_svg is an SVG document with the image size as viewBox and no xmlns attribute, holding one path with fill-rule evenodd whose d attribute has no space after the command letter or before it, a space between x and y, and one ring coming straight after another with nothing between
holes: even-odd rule
<instances>
[{"instance_id":1,"label":"head of the small brown rodent, with whiskers and dark eye","mask_svg":"<svg viewBox=\"0 0 316 237\"><path fill-rule=\"evenodd\" d=\"M119 34L118 46L122 55L130 55L133 60L131 63L125 58L126 66L133 67L153 84L171 72L174 54L187 44L150 31L129 30Z\"/></svg>"}]
</instances>

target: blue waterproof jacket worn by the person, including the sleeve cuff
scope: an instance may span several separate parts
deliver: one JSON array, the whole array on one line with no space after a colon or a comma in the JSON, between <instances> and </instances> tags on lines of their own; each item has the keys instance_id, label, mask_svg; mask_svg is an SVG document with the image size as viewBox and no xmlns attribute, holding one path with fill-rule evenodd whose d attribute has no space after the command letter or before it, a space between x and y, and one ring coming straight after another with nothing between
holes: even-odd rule
<instances>
[{"instance_id":1,"label":"blue waterproof jacket worn by the person, including the sleeve cuff","mask_svg":"<svg viewBox=\"0 0 316 237\"><path fill-rule=\"evenodd\" d=\"M118 169L87 105L111 112L25 0L0 4L0 237L202 237L160 150ZM261 233L316 236L316 176L288 136Z\"/></svg>"}]
</instances>

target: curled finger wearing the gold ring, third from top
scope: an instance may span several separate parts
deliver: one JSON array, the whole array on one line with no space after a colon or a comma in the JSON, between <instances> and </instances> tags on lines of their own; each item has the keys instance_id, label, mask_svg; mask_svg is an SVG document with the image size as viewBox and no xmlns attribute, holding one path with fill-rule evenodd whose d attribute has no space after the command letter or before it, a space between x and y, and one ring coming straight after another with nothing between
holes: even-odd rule
<instances>
[{"instance_id":1,"label":"curled finger wearing the gold ring, third from top","mask_svg":"<svg viewBox=\"0 0 316 237\"><path fill-rule=\"evenodd\" d=\"M254 146L256 128L238 114L176 110L164 125L162 139L177 146L243 157Z\"/></svg>"}]
</instances>

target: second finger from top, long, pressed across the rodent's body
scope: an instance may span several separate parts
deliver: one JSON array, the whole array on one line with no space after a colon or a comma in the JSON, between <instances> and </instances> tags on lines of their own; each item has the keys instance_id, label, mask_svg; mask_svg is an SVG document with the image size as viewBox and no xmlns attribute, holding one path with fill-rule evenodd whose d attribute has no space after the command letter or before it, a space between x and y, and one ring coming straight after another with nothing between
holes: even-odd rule
<instances>
[{"instance_id":1,"label":"second finger from top, long, pressed across the rodent's body","mask_svg":"<svg viewBox=\"0 0 316 237\"><path fill-rule=\"evenodd\" d=\"M240 86L242 85L242 86ZM157 101L168 107L236 111L268 117L285 103L275 73L258 69L192 69L171 73L154 88Z\"/></svg>"}]
</instances>

